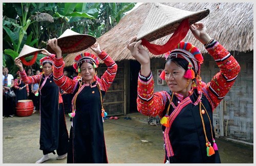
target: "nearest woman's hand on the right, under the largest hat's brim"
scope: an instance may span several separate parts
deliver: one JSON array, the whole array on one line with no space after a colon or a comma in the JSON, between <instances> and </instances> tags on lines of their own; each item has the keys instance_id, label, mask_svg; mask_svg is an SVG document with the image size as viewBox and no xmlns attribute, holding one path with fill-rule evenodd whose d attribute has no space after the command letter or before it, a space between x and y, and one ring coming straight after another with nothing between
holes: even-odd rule
<instances>
[{"instance_id":1,"label":"nearest woman's hand on the right, under the largest hat's brim","mask_svg":"<svg viewBox=\"0 0 256 166\"><path fill-rule=\"evenodd\" d=\"M192 34L198 39L201 43L206 44L211 40L211 37L206 32L206 27L202 22L196 22L193 25L189 26Z\"/></svg>"}]
</instances>

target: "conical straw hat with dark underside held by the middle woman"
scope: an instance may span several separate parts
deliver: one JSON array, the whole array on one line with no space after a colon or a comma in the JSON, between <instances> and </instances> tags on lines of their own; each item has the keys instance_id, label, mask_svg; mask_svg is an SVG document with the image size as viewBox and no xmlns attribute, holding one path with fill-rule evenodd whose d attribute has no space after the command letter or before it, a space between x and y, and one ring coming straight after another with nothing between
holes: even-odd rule
<instances>
[{"instance_id":1,"label":"conical straw hat with dark underside held by the middle woman","mask_svg":"<svg viewBox=\"0 0 256 166\"><path fill-rule=\"evenodd\" d=\"M86 50L96 42L96 38L67 29L57 38L57 42L62 54L70 54ZM49 45L47 45L46 50L55 53Z\"/></svg>"}]
</instances>

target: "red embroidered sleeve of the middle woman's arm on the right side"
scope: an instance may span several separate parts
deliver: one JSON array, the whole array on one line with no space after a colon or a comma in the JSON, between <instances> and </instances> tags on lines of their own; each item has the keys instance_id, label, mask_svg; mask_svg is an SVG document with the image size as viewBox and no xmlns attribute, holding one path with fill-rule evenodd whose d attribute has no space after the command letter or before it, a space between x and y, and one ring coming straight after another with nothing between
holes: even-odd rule
<instances>
[{"instance_id":1,"label":"red embroidered sleeve of the middle woman's arm on the right side","mask_svg":"<svg viewBox=\"0 0 256 166\"><path fill-rule=\"evenodd\" d=\"M100 54L98 54L99 58L103 60L103 62L106 64L108 69L105 70L104 74L101 76L101 78L98 80L101 84L101 88L103 91L107 91L111 84L114 81L114 78L116 76L117 71L117 64L116 62L104 51L101 51Z\"/></svg>"}]
</instances>

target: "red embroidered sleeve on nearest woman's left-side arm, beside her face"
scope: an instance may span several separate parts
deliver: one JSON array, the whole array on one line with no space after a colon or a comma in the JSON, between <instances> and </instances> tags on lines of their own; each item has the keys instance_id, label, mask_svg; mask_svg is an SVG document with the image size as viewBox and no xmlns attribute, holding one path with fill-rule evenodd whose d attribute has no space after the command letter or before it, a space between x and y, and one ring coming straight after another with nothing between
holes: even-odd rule
<instances>
[{"instance_id":1,"label":"red embroidered sleeve on nearest woman's left-side arm, beside her face","mask_svg":"<svg viewBox=\"0 0 256 166\"><path fill-rule=\"evenodd\" d=\"M137 109L146 116L163 116L163 110L170 96L166 91L154 93L154 80L150 77L143 79L139 73ZM145 81L146 80L146 81Z\"/></svg>"}]
</instances>

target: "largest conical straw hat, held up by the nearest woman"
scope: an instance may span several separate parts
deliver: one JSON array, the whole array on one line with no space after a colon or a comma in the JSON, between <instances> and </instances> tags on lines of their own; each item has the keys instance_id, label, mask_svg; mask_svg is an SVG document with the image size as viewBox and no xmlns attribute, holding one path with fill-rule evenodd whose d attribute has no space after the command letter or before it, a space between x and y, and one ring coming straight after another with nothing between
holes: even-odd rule
<instances>
[{"instance_id":1,"label":"largest conical straw hat, held up by the nearest woman","mask_svg":"<svg viewBox=\"0 0 256 166\"><path fill-rule=\"evenodd\" d=\"M189 25L192 25L209 13L209 9L191 12L155 3L137 35L137 41L142 38L154 41L174 33L182 20L188 18Z\"/></svg>"}]
</instances>

